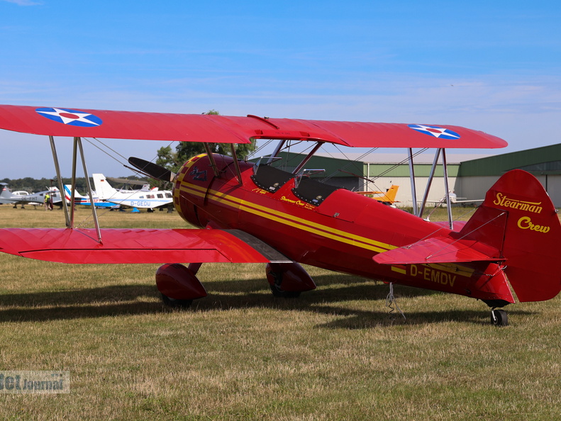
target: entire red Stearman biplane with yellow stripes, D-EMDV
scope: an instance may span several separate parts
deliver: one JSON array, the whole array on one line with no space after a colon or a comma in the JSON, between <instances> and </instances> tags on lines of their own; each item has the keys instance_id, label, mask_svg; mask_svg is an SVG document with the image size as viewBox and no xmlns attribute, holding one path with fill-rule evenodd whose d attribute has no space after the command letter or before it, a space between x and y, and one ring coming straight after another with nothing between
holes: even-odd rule
<instances>
[{"instance_id":1,"label":"entire red Stearman biplane with yellow stripes, D-EMDV","mask_svg":"<svg viewBox=\"0 0 561 421\"><path fill-rule=\"evenodd\" d=\"M23 257L80 264L165 263L156 283L170 305L189 305L206 296L196 277L204 262L265 263L275 296L316 288L300 264L455 293L487 303L495 325L507 324L500 308L514 302L512 290L519 301L545 301L561 288L561 225L548 194L531 174L513 170L501 176L465 223L452 225L449 197L448 224L421 218L440 157L446 168L445 148L506 146L504 140L475 130L28 106L0 106L0 128L48 135L57 173L54 136L73 137L73 181L77 151L87 174L82 137L232 145L228 157L211 153L205 143L207 154L189 159L177 174L129 159L144 172L172 181L177 212L204 230L102 230L95 208L95 229L74 228L70 209L66 229L0 230L0 251ZM279 140L279 145L257 164L238 159L233 145L255 138ZM284 172L272 163L293 141L315 145L294 171ZM413 148L435 148L421 206L414 188L413 215L307 177L306 162L326 142L404 147L411 169ZM61 180L60 174L57 178ZM445 191L450 191L448 185ZM177 262L191 263L187 267Z\"/></svg>"}]
</instances>

